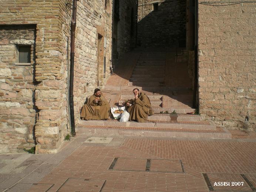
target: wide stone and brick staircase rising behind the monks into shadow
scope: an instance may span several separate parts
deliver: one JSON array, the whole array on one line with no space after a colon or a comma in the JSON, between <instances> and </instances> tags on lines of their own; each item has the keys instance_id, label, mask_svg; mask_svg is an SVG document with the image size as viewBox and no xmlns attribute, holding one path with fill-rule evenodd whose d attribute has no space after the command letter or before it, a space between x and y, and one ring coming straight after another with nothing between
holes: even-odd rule
<instances>
[{"instance_id":1,"label":"wide stone and brick staircase rising behind the monks into shadow","mask_svg":"<svg viewBox=\"0 0 256 192\"><path fill-rule=\"evenodd\" d=\"M216 127L193 114L188 55L186 51L180 52L137 49L127 53L101 89L111 107L120 107L123 101L134 98L134 88L146 93L155 112L148 117L149 121L80 120L78 132L98 136L231 138L224 127Z\"/></svg>"}]
</instances>

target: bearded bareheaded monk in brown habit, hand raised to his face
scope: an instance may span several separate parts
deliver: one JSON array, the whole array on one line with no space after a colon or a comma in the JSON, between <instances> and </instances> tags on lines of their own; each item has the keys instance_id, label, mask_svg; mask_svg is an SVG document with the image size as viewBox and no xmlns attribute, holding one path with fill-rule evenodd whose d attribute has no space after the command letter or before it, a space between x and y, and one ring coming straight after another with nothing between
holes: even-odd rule
<instances>
[{"instance_id":1,"label":"bearded bareheaded monk in brown habit, hand raised to his face","mask_svg":"<svg viewBox=\"0 0 256 192\"><path fill-rule=\"evenodd\" d=\"M129 121L145 122L148 119L148 115L152 115L151 103L148 96L145 93L139 92L138 88L135 88L134 93L134 104L131 105L127 102L127 111L130 114Z\"/></svg>"}]
</instances>

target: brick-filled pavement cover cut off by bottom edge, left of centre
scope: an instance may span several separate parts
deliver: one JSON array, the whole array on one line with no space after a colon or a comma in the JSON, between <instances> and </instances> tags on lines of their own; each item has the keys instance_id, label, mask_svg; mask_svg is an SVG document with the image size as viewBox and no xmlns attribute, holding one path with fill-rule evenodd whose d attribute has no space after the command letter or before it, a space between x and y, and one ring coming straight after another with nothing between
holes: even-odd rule
<instances>
[{"instance_id":1,"label":"brick-filled pavement cover cut off by bottom edge, left of centre","mask_svg":"<svg viewBox=\"0 0 256 192\"><path fill-rule=\"evenodd\" d=\"M68 178L57 192L101 192L106 181Z\"/></svg>"}]
</instances>

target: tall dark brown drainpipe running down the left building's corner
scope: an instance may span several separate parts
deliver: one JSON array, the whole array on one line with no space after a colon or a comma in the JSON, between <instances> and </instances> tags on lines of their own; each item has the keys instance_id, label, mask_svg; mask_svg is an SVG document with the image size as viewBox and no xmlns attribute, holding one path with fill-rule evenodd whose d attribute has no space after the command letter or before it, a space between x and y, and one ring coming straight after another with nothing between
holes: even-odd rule
<instances>
[{"instance_id":1,"label":"tall dark brown drainpipe running down the left building's corner","mask_svg":"<svg viewBox=\"0 0 256 192\"><path fill-rule=\"evenodd\" d=\"M77 0L72 3L72 17L71 17L71 37L70 37L70 79L69 79L69 107L70 107L70 129L71 134L75 136L75 118L74 118L74 56L75 56L75 25L77 20Z\"/></svg>"}]
</instances>

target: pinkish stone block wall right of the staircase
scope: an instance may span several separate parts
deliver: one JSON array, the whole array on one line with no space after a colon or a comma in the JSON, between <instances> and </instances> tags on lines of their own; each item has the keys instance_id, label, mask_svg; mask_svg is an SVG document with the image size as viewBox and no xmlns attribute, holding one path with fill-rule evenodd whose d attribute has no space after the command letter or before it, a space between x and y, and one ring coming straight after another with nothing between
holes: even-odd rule
<instances>
[{"instance_id":1,"label":"pinkish stone block wall right of the staircase","mask_svg":"<svg viewBox=\"0 0 256 192\"><path fill-rule=\"evenodd\" d=\"M256 4L209 6L201 2L200 113L228 128L255 129Z\"/></svg>"}]
</instances>

